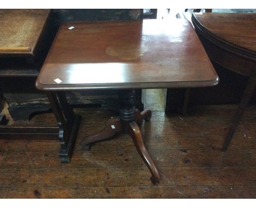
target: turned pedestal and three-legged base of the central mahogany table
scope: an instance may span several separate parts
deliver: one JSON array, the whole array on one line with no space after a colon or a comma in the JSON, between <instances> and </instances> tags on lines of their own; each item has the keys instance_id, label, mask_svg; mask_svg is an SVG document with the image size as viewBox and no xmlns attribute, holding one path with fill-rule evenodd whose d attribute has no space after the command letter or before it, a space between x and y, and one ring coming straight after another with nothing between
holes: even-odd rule
<instances>
[{"instance_id":1,"label":"turned pedestal and three-legged base of the central mahogany table","mask_svg":"<svg viewBox=\"0 0 256 208\"><path fill-rule=\"evenodd\" d=\"M122 132L130 134L139 155L141 155L144 163L146 163L150 173L152 174L150 180L152 183L158 184L160 181L160 175L153 160L148 154L148 151L143 143L141 130L136 123L136 121L141 123L143 119L149 121L152 112L149 111L149 109L146 109L140 113L138 109L135 109L135 90L120 91L119 96L121 105L119 109L120 116L110 118L104 126L104 129L84 138L80 145L83 148L90 149L91 143L107 139L114 136L116 133Z\"/></svg>"}]
</instances>

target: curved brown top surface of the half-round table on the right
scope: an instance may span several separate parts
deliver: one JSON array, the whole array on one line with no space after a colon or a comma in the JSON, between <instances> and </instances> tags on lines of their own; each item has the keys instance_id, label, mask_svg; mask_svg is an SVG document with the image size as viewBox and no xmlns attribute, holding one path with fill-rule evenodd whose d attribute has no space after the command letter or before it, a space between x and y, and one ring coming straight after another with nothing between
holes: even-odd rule
<instances>
[{"instance_id":1,"label":"curved brown top surface of the half-round table on the right","mask_svg":"<svg viewBox=\"0 0 256 208\"><path fill-rule=\"evenodd\" d=\"M238 23L242 21L241 17L242 17L242 20L247 20L249 24L239 25ZM256 61L255 44L249 44L251 41L256 40L255 33L247 34L247 37L246 37L247 41L245 41L245 39L243 38L244 34L242 34L240 31L243 28L240 28L240 30L236 32L236 36L234 36L233 33L230 33L229 35L229 33L227 32L219 32L220 30L215 29L214 27L216 26L210 23L209 21L210 18L214 18L218 20L219 23L222 23L222 24L224 23L229 24L230 21L237 21L237 26L239 27L236 27L236 29L240 28L241 26L248 27L248 25L251 25L251 30L254 30L255 32L256 13L249 13L249 14L246 14L246 13L203 13L203 14L193 13L192 15L192 20L196 23L196 26L204 34L205 38L207 38L217 46L224 48L227 51L239 54L240 56L247 58L249 60ZM222 27L222 25L219 27Z\"/></svg>"}]
</instances>

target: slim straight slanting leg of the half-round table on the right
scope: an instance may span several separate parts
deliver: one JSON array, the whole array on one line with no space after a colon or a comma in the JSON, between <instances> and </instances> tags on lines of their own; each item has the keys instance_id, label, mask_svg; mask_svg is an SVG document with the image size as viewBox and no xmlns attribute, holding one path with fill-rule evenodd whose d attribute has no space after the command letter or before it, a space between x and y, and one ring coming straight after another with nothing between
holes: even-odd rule
<instances>
[{"instance_id":1,"label":"slim straight slanting leg of the half-round table on the right","mask_svg":"<svg viewBox=\"0 0 256 208\"><path fill-rule=\"evenodd\" d=\"M242 100L236 110L235 117L233 118L233 120L231 122L229 132L228 132L228 134L225 138L225 141L223 143L222 151L226 151L228 149L231 139L232 139L232 137L236 131L236 128L241 120L243 112L245 112L245 108L246 108L248 102L251 100L251 97L252 97L254 89L255 89L255 84L256 84L256 79L253 77L250 77L248 80L246 89L245 89L245 93L243 93Z\"/></svg>"}]
</instances>

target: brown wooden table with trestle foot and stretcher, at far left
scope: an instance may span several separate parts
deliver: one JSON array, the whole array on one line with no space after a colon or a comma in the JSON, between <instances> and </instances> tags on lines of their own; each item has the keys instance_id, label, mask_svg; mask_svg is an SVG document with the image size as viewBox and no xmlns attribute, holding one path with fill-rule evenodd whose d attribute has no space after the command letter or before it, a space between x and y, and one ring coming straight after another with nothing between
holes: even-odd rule
<instances>
[{"instance_id":1,"label":"brown wooden table with trestle foot and stretcher, at far left","mask_svg":"<svg viewBox=\"0 0 256 208\"><path fill-rule=\"evenodd\" d=\"M51 107L47 96L34 87L34 82L49 49L48 46L50 46L49 34L50 36L54 35L54 31L51 30L54 28L48 24L49 18L50 9L0 10L0 27L2 28L0 34L0 87L7 99L10 115L15 121L28 120L31 113L46 111ZM49 39L46 40L46 38ZM25 104L20 104L22 102ZM14 112L15 116L13 117ZM69 123L58 127L24 126L18 123L9 125L9 120L5 115L1 115L0 138L3 139L4 134L59 135L61 162L69 162L74 144L72 142L77 132L75 128L78 128L79 123L79 117L71 114L69 117L71 118ZM68 130L63 134L66 129ZM33 139L33 137L31 138Z\"/></svg>"}]
</instances>

